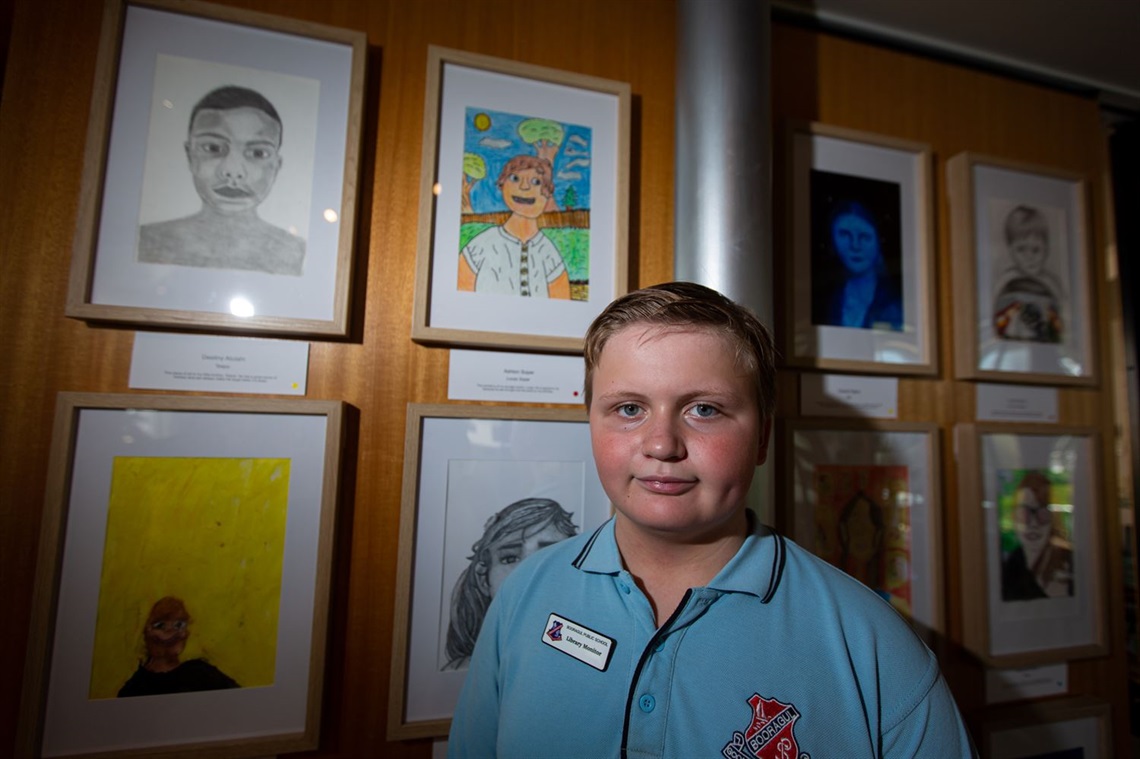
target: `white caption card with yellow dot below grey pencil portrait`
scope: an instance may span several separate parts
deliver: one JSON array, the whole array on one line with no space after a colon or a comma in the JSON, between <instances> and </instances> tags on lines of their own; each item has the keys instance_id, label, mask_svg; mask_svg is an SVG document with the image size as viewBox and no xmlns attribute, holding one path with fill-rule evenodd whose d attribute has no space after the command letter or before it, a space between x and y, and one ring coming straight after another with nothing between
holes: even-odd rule
<instances>
[{"instance_id":1,"label":"white caption card with yellow dot below grey pencil portrait","mask_svg":"<svg viewBox=\"0 0 1140 759\"><path fill-rule=\"evenodd\" d=\"M303 395L308 372L307 342L140 332L129 386Z\"/></svg>"}]
</instances>

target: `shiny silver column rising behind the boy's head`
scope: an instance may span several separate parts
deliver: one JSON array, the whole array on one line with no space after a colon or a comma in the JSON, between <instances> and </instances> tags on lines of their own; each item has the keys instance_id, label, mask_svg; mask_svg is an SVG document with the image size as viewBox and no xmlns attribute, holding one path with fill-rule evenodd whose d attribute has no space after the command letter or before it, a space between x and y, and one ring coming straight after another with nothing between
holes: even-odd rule
<instances>
[{"instance_id":1,"label":"shiny silver column rising behind the boy's head","mask_svg":"<svg viewBox=\"0 0 1140 759\"><path fill-rule=\"evenodd\" d=\"M768 0L677 0L677 279L772 324Z\"/></svg>"}]
</instances>

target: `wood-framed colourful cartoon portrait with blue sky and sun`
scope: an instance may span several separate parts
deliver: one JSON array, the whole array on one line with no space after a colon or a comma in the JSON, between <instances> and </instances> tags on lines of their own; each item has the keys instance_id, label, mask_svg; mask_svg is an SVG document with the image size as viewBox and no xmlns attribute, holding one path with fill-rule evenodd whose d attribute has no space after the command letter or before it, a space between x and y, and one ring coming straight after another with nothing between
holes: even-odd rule
<instances>
[{"instance_id":1,"label":"wood-framed colourful cartoon portrait with blue sky and sun","mask_svg":"<svg viewBox=\"0 0 1140 759\"><path fill-rule=\"evenodd\" d=\"M413 340L581 350L626 291L629 85L431 47Z\"/></svg>"}]
</instances>

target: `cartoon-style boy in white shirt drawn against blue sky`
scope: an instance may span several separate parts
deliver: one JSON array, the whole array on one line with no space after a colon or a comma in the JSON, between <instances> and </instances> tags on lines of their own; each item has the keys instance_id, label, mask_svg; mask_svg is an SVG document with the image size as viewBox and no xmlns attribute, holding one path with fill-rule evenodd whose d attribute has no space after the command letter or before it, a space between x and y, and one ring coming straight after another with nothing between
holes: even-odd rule
<instances>
[{"instance_id":1,"label":"cartoon-style boy in white shirt drawn against blue sky","mask_svg":"<svg viewBox=\"0 0 1140 759\"><path fill-rule=\"evenodd\" d=\"M569 300L565 261L538 228L554 194L551 162L516 155L503 166L497 185L511 217L475 235L459 252L458 289Z\"/></svg>"}]
</instances>

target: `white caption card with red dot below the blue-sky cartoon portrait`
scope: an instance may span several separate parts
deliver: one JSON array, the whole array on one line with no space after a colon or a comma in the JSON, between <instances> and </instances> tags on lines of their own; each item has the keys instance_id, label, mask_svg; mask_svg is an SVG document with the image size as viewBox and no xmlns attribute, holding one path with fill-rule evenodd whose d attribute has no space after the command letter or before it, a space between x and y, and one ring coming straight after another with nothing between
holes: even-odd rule
<instances>
[{"instance_id":1,"label":"white caption card with red dot below the blue-sky cartoon portrait","mask_svg":"<svg viewBox=\"0 0 1140 759\"><path fill-rule=\"evenodd\" d=\"M585 365L580 356L451 351L450 400L581 403Z\"/></svg>"}]
</instances>

